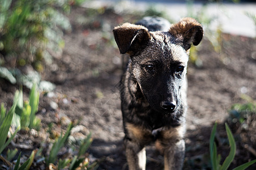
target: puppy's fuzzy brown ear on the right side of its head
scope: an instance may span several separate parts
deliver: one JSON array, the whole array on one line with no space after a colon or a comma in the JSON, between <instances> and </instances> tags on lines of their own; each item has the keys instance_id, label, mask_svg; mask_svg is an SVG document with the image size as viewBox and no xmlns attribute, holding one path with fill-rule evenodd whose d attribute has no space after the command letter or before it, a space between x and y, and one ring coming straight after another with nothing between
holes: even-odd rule
<instances>
[{"instance_id":1,"label":"puppy's fuzzy brown ear on the right side of its head","mask_svg":"<svg viewBox=\"0 0 256 170\"><path fill-rule=\"evenodd\" d=\"M198 45L203 38L203 27L193 18L183 18L177 24L174 24L169 32L185 50L190 49L191 44Z\"/></svg>"}]
</instances>

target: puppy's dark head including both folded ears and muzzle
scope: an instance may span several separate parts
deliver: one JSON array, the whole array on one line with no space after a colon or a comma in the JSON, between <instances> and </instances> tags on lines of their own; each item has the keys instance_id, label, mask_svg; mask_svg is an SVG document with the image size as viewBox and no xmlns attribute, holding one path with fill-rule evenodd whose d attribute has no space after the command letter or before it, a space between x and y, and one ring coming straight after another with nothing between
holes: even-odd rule
<instances>
[{"instance_id":1,"label":"puppy's dark head including both folded ears and muzzle","mask_svg":"<svg viewBox=\"0 0 256 170\"><path fill-rule=\"evenodd\" d=\"M183 18L168 32L150 32L142 25L125 23L114 28L114 36L120 52L131 57L132 74L152 108L162 113L177 112L189 49L202 40L202 25Z\"/></svg>"}]
</instances>

